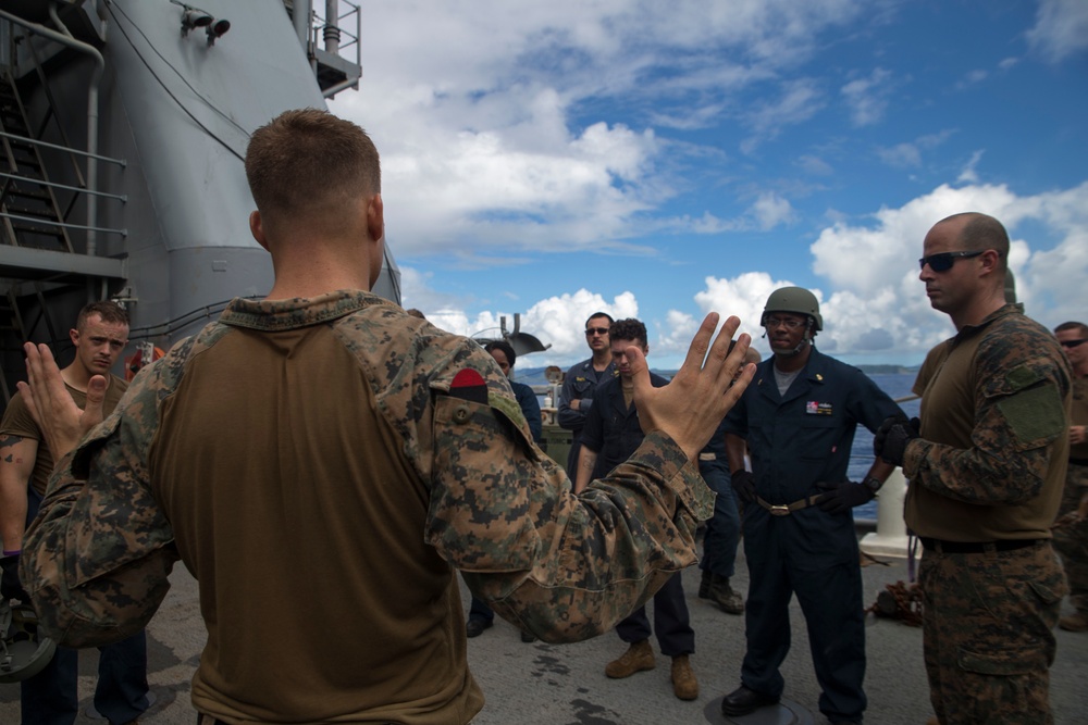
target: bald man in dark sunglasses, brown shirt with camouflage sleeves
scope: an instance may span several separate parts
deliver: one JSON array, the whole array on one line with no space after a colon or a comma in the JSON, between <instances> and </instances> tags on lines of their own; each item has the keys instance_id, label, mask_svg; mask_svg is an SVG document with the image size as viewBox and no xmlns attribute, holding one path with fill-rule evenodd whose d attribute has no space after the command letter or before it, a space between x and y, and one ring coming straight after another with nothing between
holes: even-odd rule
<instances>
[{"instance_id":1,"label":"bald man in dark sunglasses, brown shirt with camouflage sleeves","mask_svg":"<svg viewBox=\"0 0 1088 725\"><path fill-rule=\"evenodd\" d=\"M889 418L877 455L911 480L925 547L923 646L942 725L1051 723L1049 667L1065 575L1051 546L1065 483L1072 370L1007 303L1009 235L955 214L926 235L919 278L955 337L923 368L920 421Z\"/></svg>"}]
</instances>

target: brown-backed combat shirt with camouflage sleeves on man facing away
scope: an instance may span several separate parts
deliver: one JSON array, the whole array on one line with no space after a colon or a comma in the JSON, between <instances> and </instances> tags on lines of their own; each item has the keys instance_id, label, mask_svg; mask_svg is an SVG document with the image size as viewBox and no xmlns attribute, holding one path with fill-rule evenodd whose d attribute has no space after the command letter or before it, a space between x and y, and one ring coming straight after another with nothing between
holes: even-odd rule
<instances>
[{"instance_id":1,"label":"brown-backed combat shirt with camouflage sleeves on man facing away","mask_svg":"<svg viewBox=\"0 0 1088 725\"><path fill-rule=\"evenodd\" d=\"M296 345L289 355L261 352L293 335L317 336L317 351ZM293 362L306 354L305 363ZM298 371L304 364L309 368ZM248 377L260 375L267 384L254 391ZM236 389L244 392L235 401ZM298 398L297 410L276 414L276 405ZM225 422L189 420L196 405L222 405ZM358 420L341 424L351 414ZM333 442L323 443L327 438ZM298 461L296 448L320 455ZM351 475L336 475L338 459ZM313 473L326 468L324 477ZM355 500L346 496L367 505L342 504ZM378 714L384 718L375 722L465 722L480 699L463 695L478 688L467 675L452 568L519 627L547 641L585 639L695 563L695 526L708 517L712 497L695 462L659 433L574 497L562 470L533 445L491 355L378 297L234 300L219 322L141 371L116 411L61 461L27 532L22 574L50 634L86 647L143 628L182 559L200 582L209 627L194 679L201 712L261 720L289 705L312 722L307 708L343 702L345 688L381 676L376 691L359 696L372 709L322 720L364 711L368 722ZM260 537L235 530L279 516L294 524L306 507L321 516L264 524ZM329 543L341 539L350 546ZM245 547L248 557L234 550ZM322 555L299 559L311 549ZM240 561L225 571L222 561L232 557ZM367 586L373 576L382 578ZM239 589L263 591L255 578L276 593L237 601ZM259 599L275 603L255 607ZM335 613L332 623L320 614L325 609ZM274 617L280 626L271 632L231 640L235 629ZM321 634L300 639L295 630L304 627ZM284 648L292 637L313 651ZM290 662L274 660L283 651ZM441 663L441 683L431 663ZM272 671L270 683L289 670L298 690L314 679L335 697L255 712L255 702L298 695L274 684L236 692L235 679L256 680L263 673L254 671L263 670ZM413 716L381 709L383 698L403 702L410 688L430 688ZM198 701L198 689L213 696ZM456 713L441 710L446 697L460 698ZM424 710L434 714L419 714Z\"/></svg>"}]
</instances>

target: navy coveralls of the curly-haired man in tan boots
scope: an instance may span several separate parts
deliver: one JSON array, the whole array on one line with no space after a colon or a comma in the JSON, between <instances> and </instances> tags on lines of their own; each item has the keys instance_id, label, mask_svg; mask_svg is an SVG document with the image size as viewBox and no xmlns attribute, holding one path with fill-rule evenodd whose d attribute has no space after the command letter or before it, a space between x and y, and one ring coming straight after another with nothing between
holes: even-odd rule
<instances>
[{"instance_id":1,"label":"navy coveralls of the curly-haired man in tan boots","mask_svg":"<svg viewBox=\"0 0 1088 725\"><path fill-rule=\"evenodd\" d=\"M667 385L660 375L650 374L654 387ZM628 408L623 400L621 378L616 377L597 386L593 408L585 416L582 445L597 453L593 478L599 478L631 457L645 437L639 424L634 403ZM683 598L680 572L654 595L654 628L650 628L646 608L640 607L616 625L616 633L625 642L640 642L657 634L657 645L665 657L691 654L695 651L695 630L688 617L688 603Z\"/></svg>"}]
</instances>

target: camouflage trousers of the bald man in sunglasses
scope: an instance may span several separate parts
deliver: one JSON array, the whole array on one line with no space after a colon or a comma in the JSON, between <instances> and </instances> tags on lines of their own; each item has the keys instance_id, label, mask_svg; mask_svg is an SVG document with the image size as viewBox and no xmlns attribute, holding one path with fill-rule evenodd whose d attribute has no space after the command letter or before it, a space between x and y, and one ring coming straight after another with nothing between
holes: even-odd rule
<instances>
[{"instance_id":1,"label":"camouflage trousers of the bald man in sunglasses","mask_svg":"<svg viewBox=\"0 0 1088 725\"><path fill-rule=\"evenodd\" d=\"M923 643L942 725L1049 725L1053 632L1067 587L1049 541L1005 552L926 551Z\"/></svg>"}]
</instances>

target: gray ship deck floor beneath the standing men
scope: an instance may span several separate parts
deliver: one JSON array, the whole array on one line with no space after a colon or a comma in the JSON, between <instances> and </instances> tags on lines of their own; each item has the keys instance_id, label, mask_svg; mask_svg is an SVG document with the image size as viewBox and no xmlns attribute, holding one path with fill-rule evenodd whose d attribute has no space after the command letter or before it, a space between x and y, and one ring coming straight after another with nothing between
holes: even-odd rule
<instances>
[{"instance_id":1,"label":"gray ship deck floor beneath the standing men","mask_svg":"<svg viewBox=\"0 0 1088 725\"><path fill-rule=\"evenodd\" d=\"M888 584L907 579L905 560L887 559L863 567L865 603L871 604ZM738 559L734 586L746 590L747 572ZM145 725L193 725L189 680L203 646L205 629L197 603L196 582L178 566L173 587L148 627L148 678L157 702L141 718ZM473 725L659 725L673 723L735 722L738 725L826 723L817 710L819 687L812 670L807 636L800 608L791 605L793 647L782 666L784 700L790 710L761 711L729 721L718 711L722 693L739 684L744 654L744 621L725 614L697 599L698 572L684 572L684 588L695 629L692 663L700 680L700 697L682 702L672 696L669 661L658 654L657 667L628 679L605 677L605 664L621 653L625 645L605 635L578 645L522 643L512 625L496 620L495 626L469 640L469 662L483 688L486 705ZM462 593L466 593L462 588ZM467 596L465 597L467 609ZM922 662L922 630L894 620L868 615L866 649L868 668L865 687L869 707L866 722L877 725L922 725L932 715ZM1088 711L1088 633L1056 630L1058 658L1051 668L1051 703L1054 722L1074 725ZM364 646L364 645L361 645ZM656 643L655 643L656 650ZM97 654L81 657L81 725L91 720ZM18 686L0 685L0 723L16 723ZM807 713L812 713L812 717Z\"/></svg>"}]
</instances>

